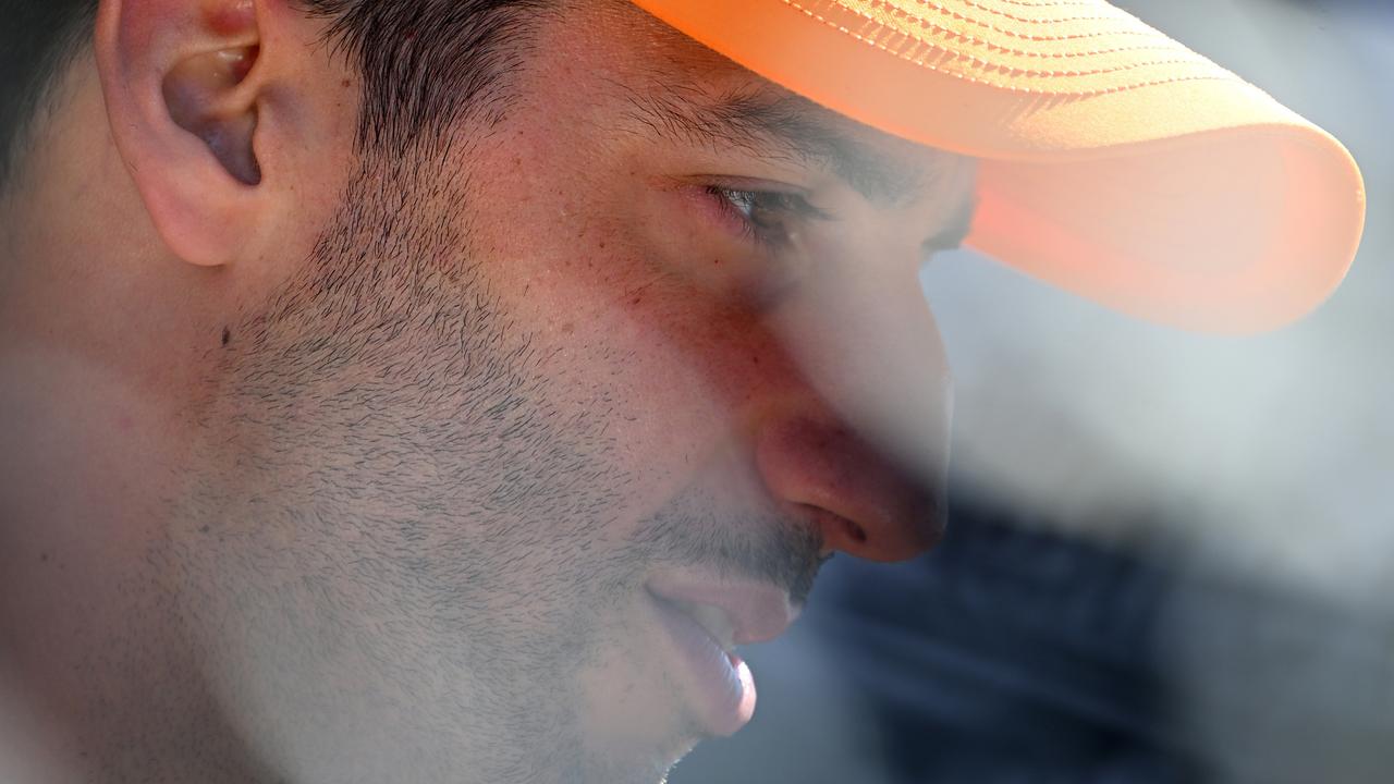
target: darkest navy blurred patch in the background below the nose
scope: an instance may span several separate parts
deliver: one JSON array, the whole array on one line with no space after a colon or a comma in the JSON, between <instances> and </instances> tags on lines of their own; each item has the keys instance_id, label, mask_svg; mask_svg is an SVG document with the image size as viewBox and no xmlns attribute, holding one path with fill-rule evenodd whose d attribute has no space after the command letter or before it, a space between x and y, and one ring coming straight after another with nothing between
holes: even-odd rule
<instances>
[{"instance_id":1,"label":"darkest navy blurred patch in the background below the nose","mask_svg":"<svg viewBox=\"0 0 1394 784\"><path fill-rule=\"evenodd\" d=\"M1196 781L1164 713L1163 571L987 508L953 526L937 558L849 568L818 618L898 780Z\"/></svg>"}]
</instances>

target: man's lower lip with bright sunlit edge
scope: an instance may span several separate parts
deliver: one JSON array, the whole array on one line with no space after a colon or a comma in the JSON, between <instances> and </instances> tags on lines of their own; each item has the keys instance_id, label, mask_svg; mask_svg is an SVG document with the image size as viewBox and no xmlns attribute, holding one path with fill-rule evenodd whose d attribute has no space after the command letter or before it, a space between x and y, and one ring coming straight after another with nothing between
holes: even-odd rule
<instances>
[{"instance_id":1,"label":"man's lower lip with bright sunlit edge","mask_svg":"<svg viewBox=\"0 0 1394 784\"><path fill-rule=\"evenodd\" d=\"M739 656L722 650L686 612L658 597L654 604L690 675L701 724L714 735L733 735L756 713L756 682L750 668Z\"/></svg>"}]
</instances>

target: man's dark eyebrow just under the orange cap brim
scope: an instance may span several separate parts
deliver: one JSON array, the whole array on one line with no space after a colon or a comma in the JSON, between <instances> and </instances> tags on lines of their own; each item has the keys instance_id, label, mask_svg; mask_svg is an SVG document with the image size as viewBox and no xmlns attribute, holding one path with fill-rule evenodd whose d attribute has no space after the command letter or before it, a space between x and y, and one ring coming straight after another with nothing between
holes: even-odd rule
<instances>
[{"instance_id":1,"label":"man's dark eyebrow just under the orange cap brim","mask_svg":"<svg viewBox=\"0 0 1394 784\"><path fill-rule=\"evenodd\" d=\"M828 109L792 93L744 88L712 100L693 88L665 85L645 93L631 91L630 105L631 117L659 135L710 149L735 146L758 156L813 165L873 202L905 204L933 184L924 173L898 166L839 133L824 119L831 114Z\"/></svg>"}]
</instances>

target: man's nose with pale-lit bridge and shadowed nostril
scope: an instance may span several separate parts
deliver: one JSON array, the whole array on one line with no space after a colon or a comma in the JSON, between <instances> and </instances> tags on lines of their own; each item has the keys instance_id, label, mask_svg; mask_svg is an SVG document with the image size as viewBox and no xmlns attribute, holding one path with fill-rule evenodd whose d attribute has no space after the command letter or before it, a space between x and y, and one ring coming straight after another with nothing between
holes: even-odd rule
<instances>
[{"instance_id":1,"label":"man's nose with pale-lit bridge and shadowed nostril","mask_svg":"<svg viewBox=\"0 0 1394 784\"><path fill-rule=\"evenodd\" d=\"M813 403L771 416L757 462L825 547L896 561L944 529L951 388L913 273L848 275L800 296L779 339Z\"/></svg>"}]
</instances>

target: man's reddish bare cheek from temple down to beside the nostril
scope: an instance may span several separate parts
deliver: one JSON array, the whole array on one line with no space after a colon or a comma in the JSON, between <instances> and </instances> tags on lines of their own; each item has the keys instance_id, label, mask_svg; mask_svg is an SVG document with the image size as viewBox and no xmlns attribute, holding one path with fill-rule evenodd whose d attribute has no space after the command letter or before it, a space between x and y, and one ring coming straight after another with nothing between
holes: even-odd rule
<instances>
[{"instance_id":1,"label":"man's reddish bare cheek from temple down to beside the nostril","mask_svg":"<svg viewBox=\"0 0 1394 784\"><path fill-rule=\"evenodd\" d=\"M477 179L471 261L570 413L609 412L616 459L672 490L790 385L790 363L723 287L711 239L682 234L694 229L623 160L506 146L474 162L506 174Z\"/></svg>"}]
</instances>

